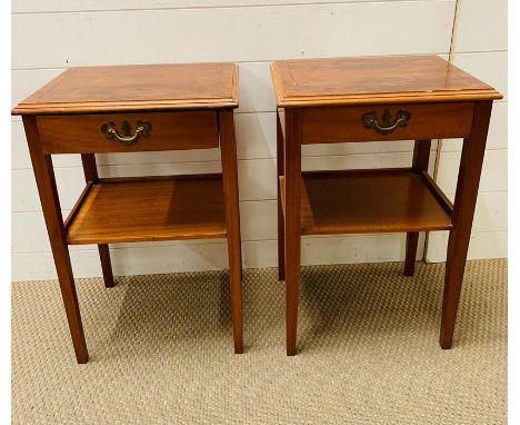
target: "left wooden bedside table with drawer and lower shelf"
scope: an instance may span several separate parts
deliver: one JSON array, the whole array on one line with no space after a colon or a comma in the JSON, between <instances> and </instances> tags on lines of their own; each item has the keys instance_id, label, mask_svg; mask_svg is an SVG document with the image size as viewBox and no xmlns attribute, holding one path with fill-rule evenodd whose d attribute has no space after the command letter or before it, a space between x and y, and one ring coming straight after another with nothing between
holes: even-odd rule
<instances>
[{"instance_id":1,"label":"left wooden bedside table with drawer and lower shelf","mask_svg":"<svg viewBox=\"0 0 520 425\"><path fill-rule=\"evenodd\" d=\"M232 63L71 68L20 102L78 363L88 352L69 245L227 238L234 353L242 353L241 251ZM221 148L222 174L99 178L94 152ZM51 155L81 154L87 186L61 217Z\"/></svg>"}]
</instances>

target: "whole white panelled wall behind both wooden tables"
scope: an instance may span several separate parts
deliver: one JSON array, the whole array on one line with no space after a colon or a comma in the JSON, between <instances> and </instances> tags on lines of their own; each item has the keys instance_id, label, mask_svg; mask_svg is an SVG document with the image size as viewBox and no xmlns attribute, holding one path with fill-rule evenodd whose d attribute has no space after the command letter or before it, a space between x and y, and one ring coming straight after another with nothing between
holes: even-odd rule
<instances>
[{"instance_id":1,"label":"whole white panelled wall behind both wooden tables","mask_svg":"<svg viewBox=\"0 0 520 425\"><path fill-rule=\"evenodd\" d=\"M480 21L489 22L496 13L487 10L491 2L463 3L468 6L462 7L459 31L464 36L458 38L456 61L504 91L506 36L494 27L506 24L506 18L501 13L489 34L482 33L487 26L480 27ZM504 0L492 3L506 8ZM447 58L454 6L454 0L14 0L12 105L69 66L238 62L241 92L236 121L244 266L272 267L277 265L276 106L270 61L407 53ZM489 244L490 238L501 241L506 237L507 142L500 128L506 109L502 102L493 113L492 151L486 158L476 220L476 235L483 236L476 237L471 247L477 257L506 255L502 245L493 249ZM407 166L411 149L410 141L306 147L303 168ZM436 146L432 149L433 160ZM447 187L452 185L449 175L456 167L457 149L451 141L443 145L440 177ZM98 155L98 164L102 176L220 170L218 150ZM58 156L54 166L67 214L83 187L81 162L76 156ZM442 236L436 237L430 237L432 260L439 259L434 254L441 250ZM116 275L227 267L226 243L218 239L121 244L113 245L111 254ZM309 237L303 240L302 263L401 260L403 255L403 235ZM101 275L94 246L72 247L71 257L76 276ZM12 278L53 277L23 128L13 117Z\"/></svg>"}]
</instances>

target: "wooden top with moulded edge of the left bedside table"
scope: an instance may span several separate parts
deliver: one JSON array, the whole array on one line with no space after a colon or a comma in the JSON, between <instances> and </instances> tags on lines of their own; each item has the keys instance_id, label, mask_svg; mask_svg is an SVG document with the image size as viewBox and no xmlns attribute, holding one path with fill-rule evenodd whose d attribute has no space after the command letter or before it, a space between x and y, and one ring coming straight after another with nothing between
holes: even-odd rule
<instances>
[{"instance_id":1,"label":"wooden top with moulded edge of the left bedside table","mask_svg":"<svg viewBox=\"0 0 520 425\"><path fill-rule=\"evenodd\" d=\"M13 115L238 107L234 63L69 68L21 101Z\"/></svg>"}]
</instances>

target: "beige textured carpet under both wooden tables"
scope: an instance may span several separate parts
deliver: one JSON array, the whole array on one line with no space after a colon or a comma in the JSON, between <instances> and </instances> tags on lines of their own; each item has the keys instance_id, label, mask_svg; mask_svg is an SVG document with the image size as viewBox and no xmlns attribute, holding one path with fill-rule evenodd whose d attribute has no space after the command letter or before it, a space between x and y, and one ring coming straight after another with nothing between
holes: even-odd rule
<instances>
[{"instance_id":1,"label":"beige textured carpet under both wooden tables","mask_svg":"<svg viewBox=\"0 0 520 425\"><path fill-rule=\"evenodd\" d=\"M78 280L77 365L56 281L12 285L14 424L504 424L507 261L468 264L454 346L438 345L443 265L303 269L284 355L276 269L243 279L232 354L226 273Z\"/></svg>"}]
</instances>

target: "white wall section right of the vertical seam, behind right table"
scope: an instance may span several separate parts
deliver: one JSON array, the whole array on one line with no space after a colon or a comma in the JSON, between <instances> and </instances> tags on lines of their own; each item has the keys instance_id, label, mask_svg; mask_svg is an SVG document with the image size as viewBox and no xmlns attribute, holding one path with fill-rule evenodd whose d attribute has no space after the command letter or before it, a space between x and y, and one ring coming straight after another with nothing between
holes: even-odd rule
<instances>
[{"instance_id":1,"label":"white wall section right of the vertical seam, behind right table","mask_svg":"<svg viewBox=\"0 0 520 425\"><path fill-rule=\"evenodd\" d=\"M488 136L477 210L468 257L507 257L508 241L508 76L507 1L462 0L453 62L496 87L503 99L494 102ZM462 140L444 140L438 182L453 199ZM447 231L432 231L426 258L444 261Z\"/></svg>"}]
</instances>

